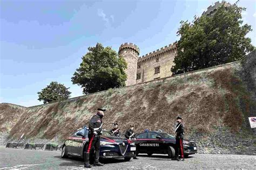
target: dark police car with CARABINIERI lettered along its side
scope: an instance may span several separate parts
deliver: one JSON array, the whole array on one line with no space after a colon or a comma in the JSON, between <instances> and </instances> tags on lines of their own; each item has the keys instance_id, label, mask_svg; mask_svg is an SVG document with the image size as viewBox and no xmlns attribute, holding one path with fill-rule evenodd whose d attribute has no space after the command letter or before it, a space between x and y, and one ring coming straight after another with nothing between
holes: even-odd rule
<instances>
[{"instance_id":1,"label":"dark police car with CARABINIERI lettered along its side","mask_svg":"<svg viewBox=\"0 0 256 170\"><path fill-rule=\"evenodd\" d=\"M159 131L143 132L136 135L136 154L153 153L168 154L169 158L175 156L175 137L171 134ZM194 141L183 140L184 156L197 153L197 145Z\"/></svg>"}]
</instances>

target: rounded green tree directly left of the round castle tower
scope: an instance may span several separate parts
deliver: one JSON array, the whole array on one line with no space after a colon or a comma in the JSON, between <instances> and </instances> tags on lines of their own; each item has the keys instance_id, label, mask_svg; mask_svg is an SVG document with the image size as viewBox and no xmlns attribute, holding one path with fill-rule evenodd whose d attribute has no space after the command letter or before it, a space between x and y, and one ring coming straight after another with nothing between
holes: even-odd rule
<instances>
[{"instance_id":1,"label":"rounded green tree directly left of the round castle tower","mask_svg":"<svg viewBox=\"0 0 256 170\"><path fill-rule=\"evenodd\" d=\"M111 47L104 48L100 43L88 50L71 77L73 84L82 86L84 94L125 86L127 63L123 57L118 57Z\"/></svg>"}]
</instances>

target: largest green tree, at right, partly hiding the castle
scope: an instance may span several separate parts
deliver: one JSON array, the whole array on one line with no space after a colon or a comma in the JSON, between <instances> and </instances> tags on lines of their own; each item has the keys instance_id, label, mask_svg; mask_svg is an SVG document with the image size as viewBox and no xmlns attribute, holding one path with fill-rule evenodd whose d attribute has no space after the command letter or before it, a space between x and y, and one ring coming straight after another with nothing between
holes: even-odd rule
<instances>
[{"instance_id":1,"label":"largest green tree, at right, partly hiding the castle","mask_svg":"<svg viewBox=\"0 0 256 170\"><path fill-rule=\"evenodd\" d=\"M244 10L235 3L220 6L211 16L195 16L192 23L181 21L173 75L238 61L252 51L251 39L245 37L251 26L242 25Z\"/></svg>"}]
</instances>

